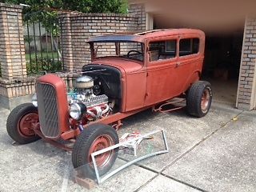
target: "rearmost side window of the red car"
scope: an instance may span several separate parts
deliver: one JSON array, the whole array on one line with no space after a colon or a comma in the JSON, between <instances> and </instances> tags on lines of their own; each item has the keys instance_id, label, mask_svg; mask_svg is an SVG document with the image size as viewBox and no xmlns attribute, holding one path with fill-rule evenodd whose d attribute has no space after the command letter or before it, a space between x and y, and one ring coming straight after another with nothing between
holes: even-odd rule
<instances>
[{"instance_id":1,"label":"rearmost side window of the red car","mask_svg":"<svg viewBox=\"0 0 256 192\"><path fill-rule=\"evenodd\" d=\"M179 56L198 54L199 38L182 38L179 41Z\"/></svg>"}]
</instances>

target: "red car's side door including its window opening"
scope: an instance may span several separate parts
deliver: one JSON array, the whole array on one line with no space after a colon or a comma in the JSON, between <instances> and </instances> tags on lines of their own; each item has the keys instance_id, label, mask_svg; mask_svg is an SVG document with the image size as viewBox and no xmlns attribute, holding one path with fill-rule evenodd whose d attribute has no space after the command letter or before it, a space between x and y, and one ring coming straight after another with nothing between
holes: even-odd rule
<instances>
[{"instance_id":1,"label":"red car's side door including its window opening","mask_svg":"<svg viewBox=\"0 0 256 192\"><path fill-rule=\"evenodd\" d=\"M177 42L178 36L147 42L145 106L165 101L178 93Z\"/></svg>"}]
</instances>

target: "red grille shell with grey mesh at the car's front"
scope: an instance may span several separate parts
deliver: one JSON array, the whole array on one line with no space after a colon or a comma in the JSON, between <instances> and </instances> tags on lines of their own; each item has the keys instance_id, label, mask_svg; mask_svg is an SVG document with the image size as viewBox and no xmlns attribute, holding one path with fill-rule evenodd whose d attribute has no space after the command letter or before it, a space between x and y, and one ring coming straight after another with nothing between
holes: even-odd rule
<instances>
[{"instance_id":1,"label":"red grille shell with grey mesh at the car's front","mask_svg":"<svg viewBox=\"0 0 256 192\"><path fill-rule=\"evenodd\" d=\"M57 140L69 133L69 105L66 85L55 74L46 74L36 81L40 129L45 138ZM66 136L66 138L72 135Z\"/></svg>"}]
</instances>

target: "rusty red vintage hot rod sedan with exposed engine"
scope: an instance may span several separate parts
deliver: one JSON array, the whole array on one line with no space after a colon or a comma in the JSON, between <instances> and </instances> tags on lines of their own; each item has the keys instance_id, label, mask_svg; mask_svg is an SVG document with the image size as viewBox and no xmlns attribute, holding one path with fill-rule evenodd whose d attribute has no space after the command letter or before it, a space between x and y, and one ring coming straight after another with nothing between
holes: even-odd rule
<instances>
[{"instance_id":1,"label":"rusty red vintage hot rod sedan with exposed engine","mask_svg":"<svg viewBox=\"0 0 256 192\"><path fill-rule=\"evenodd\" d=\"M74 90L67 92L62 78L46 74L36 81L32 103L11 111L6 128L14 141L26 144L42 138L72 150L74 168L88 165L86 172L93 178L90 154L118 143L116 130L123 118L148 108L164 111L177 97L186 99L188 114L208 113L210 83L199 81L205 48L201 30L109 34L88 43L92 62L82 67ZM110 170L117 152L96 157L100 175Z\"/></svg>"}]
</instances>

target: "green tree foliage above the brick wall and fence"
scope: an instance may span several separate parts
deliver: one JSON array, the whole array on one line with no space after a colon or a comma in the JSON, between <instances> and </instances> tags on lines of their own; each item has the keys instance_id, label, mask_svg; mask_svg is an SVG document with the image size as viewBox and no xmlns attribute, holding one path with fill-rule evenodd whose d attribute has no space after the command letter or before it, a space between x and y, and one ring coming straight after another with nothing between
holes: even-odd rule
<instances>
[{"instance_id":1,"label":"green tree foliage above the brick wall and fence","mask_svg":"<svg viewBox=\"0 0 256 192\"><path fill-rule=\"evenodd\" d=\"M127 13L126 0L0 0L11 4L26 4L24 21L41 21L44 26L53 23L59 10L73 10L82 13Z\"/></svg>"}]
</instances>

